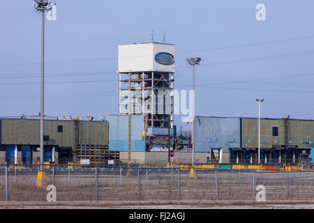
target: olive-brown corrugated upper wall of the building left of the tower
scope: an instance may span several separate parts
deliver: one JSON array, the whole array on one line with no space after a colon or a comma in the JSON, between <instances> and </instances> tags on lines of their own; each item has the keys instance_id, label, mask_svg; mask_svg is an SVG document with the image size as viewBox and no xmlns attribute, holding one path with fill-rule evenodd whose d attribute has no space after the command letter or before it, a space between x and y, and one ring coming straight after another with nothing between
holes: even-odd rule
<instances>
[{"instance_id":1,"label":"olive-brown corrugated upper wall of the building left of the tower","mask_svg":"<svg viewBox=\"0 0 314 223\"><path fill-rule=\"evenodd\" d=\"M63 126L63 132L58 132L58 125ZM58 145L75 149L74 121L45 120L44 134L50 141L45 145ZM109 144L109 124L107 122L79 121L80 139L82 144ZM1 144L39 145L39 120L2 119Z\"/></svg>"}]
</instances>

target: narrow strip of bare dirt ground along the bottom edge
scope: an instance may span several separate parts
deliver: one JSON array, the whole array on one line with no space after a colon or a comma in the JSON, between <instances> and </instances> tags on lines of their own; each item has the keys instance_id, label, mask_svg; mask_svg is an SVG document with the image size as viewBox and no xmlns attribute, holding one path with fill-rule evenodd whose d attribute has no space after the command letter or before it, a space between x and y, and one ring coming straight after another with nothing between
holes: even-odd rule
<instances>
[{"instance_id":1,"label":"narrow strip of bare dirt ground along the bottom edge","mask_svg":"<svg viewBox=\"0 0 314 223\"><path fill-rule=\"evenodd\" d=\"M0 209L314 209L314 201L278 201L257 203L247 201L1 201Z\"/></svg>"}]
</instances>

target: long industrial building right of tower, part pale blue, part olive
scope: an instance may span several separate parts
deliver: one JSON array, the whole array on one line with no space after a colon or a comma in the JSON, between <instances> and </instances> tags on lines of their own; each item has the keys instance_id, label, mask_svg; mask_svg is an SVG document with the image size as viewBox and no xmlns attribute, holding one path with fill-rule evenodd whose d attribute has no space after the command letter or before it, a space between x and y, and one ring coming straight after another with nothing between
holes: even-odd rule
<instances>
[{"instance_id":1,"label":"long industrial building right of tower, part pale blue, part olive","mask_svg":"<svg viewBox=\"0 0 314 223\"><path fill-rule=\"evenodd\" d=\"M195 152L209 153L209 162L258 162L258 118L195 116L194 121ZM313 120L260 118L260 162L308 163L313 137Z\"/></svg>"}]
</instances>

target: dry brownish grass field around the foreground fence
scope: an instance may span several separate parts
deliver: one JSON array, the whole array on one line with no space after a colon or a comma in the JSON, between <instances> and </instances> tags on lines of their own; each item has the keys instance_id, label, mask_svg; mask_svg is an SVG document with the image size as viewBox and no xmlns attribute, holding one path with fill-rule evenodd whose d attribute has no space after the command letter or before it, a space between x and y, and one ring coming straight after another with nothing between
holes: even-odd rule
<instances>
[{"instance_id":1,"label":"dry brownish grass field around the foreground fence","mask_svg":"<svg viewBox=\"0 0 314 223\"><path fill-rule=\"evenodd\" d=\"M253 176L254 175L254 176ZM314 172L188 172L146 171L138 174L68 171L52 176L47 184L57 188L57 202L47 202L48 191L35 187L36 172L0 174L0 207L53 206L54 208L313 208ZM217 177L217 178L216 178ZM256 186L264 185L266 202L256 202ZM3 203L4 201L4 203ZM96 202L97 201L97 202ZM144 202L142 206L139 202ZM11 205L11 204L12 205ZM41 203L41 204L40 204ZM45 204L43 204L45 203ZM71 204L72 203L72 204ZM76 204L75 204L76 203ZM89 205L87 205L89 203ZM10 205L9 205L10 204ZM22 206L21 206L22 204Z\"/></svg>"}]
</instances>

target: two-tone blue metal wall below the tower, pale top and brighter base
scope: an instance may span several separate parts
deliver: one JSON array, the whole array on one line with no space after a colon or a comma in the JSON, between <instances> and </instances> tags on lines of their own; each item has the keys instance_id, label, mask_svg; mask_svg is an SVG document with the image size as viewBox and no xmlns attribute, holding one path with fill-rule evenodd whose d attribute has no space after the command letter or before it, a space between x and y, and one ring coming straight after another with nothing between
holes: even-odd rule
<instances>
[{"instance_id":1,"label":"two-tone blue metal wall below the tower, pale top and brighter base","mask_svg":"<svg viewBox=\"0 0 314 223\"><path fill-rule=\"evenodd\" d=\"M145 115L131 116L131 151L145 151L142 140ZM109 148L111 151L128 151L128 115L107 116L109 122Z\"/></svg>"}]
</instances>

